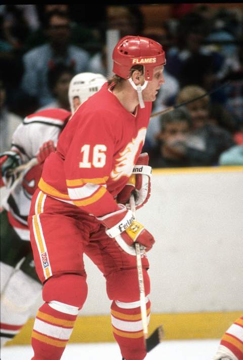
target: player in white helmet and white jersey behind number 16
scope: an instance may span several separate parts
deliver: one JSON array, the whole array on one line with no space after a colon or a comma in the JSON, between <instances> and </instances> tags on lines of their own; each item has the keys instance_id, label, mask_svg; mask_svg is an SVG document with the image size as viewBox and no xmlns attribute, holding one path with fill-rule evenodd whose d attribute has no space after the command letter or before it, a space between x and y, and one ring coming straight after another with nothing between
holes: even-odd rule
<instances>
[{"instance_id":1,"label":"player in white helmet and white jersey behind number 16","mask_svg":"<svg viewBox=\"0 0 243 360\"><path fill-rule=\"evenodd\" d=\"M101 74L80 73L69 85L72 113L95 94L106 79ZM73 106L73 98L78 102ZM1 213L1 345L12 339L26 323L31 307L41 295L42 284L34 268L27 216L31 197L37 187L45 158L55 151L57 139L70 118L63 109L47 109L27 116L13 135L10 151L1 155L3 185L13 184L8 171L27 163L32 157L38 164L26 169L2 204Z\"/></svg>"}]
</instances>

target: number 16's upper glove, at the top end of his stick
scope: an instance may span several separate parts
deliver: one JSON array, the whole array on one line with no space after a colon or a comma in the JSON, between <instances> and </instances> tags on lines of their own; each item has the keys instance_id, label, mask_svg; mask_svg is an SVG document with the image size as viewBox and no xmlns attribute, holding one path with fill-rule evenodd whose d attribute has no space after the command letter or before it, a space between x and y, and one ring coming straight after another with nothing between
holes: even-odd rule
<instances>
[{"instance_id":1,"label":"number 16's upper glove, at the top end of his stick","mask_svg":"<svg viewBox=\"0 0 243 360\"><path fill-rule=\"evenodd\" d=\"M117 203L126 205L128 209L130 209L129 199L132 192L135 197L136 210L146 204L150 197L152 168L148 166L148 159L147 152L139 155L137 164L133 168L133 173L127 185L117 195Z\"/></svg>"}]
</instances>

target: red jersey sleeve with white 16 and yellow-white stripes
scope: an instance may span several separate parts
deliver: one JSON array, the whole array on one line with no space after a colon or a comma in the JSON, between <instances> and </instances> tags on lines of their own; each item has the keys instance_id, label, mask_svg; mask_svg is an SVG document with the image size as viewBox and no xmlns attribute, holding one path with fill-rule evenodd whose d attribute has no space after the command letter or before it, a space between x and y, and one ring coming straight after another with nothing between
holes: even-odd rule
<instances>
[{"instance_id":1,"label":"red jersey sleeve with white 16 and yellow-white stripes","mask_svg":"<svg viewBox=\"0 0 243 360\"><path fill-rule=\"evenodd\" d=\"M73 204L95 216L118 210L106 189L117 133L112 124L108 111L84 116L65 155L68 195Z\"/></svg>"}]
</instances>

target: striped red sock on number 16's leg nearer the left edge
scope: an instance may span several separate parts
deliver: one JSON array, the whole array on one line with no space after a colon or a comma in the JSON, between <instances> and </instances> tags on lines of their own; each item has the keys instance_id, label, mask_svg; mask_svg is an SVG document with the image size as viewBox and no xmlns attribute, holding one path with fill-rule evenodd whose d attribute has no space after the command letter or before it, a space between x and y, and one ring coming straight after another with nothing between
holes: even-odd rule
<instances>
[{"instance_id":1,"label":"striped red sock on number 16's leg nearer the left edge","mask_svg":"<svg viewBox=\"0 0 243 360\"><path fill-rule=\"evenodd\" d=\"M59 360L71 336L78 308L58 301L45 303L36 314L31 360Z\"/></svg>"}]
</instances>

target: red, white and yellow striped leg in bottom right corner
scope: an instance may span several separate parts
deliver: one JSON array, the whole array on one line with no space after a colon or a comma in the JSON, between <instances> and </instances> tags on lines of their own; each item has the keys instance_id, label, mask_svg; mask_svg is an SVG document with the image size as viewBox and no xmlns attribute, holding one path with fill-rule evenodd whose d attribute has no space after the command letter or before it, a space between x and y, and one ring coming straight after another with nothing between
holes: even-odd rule
<instances>
[{"instance_id":1,"label":"red, white and yellow striped leg in bottom right corner","mask_svg":"<svg viewBox=\"0 0 243 360\"><path fill-rule=\"evenodd\" d=\"M213 360L243 360L243 316L226 330Z\"/></svg>"}]
</instances>

